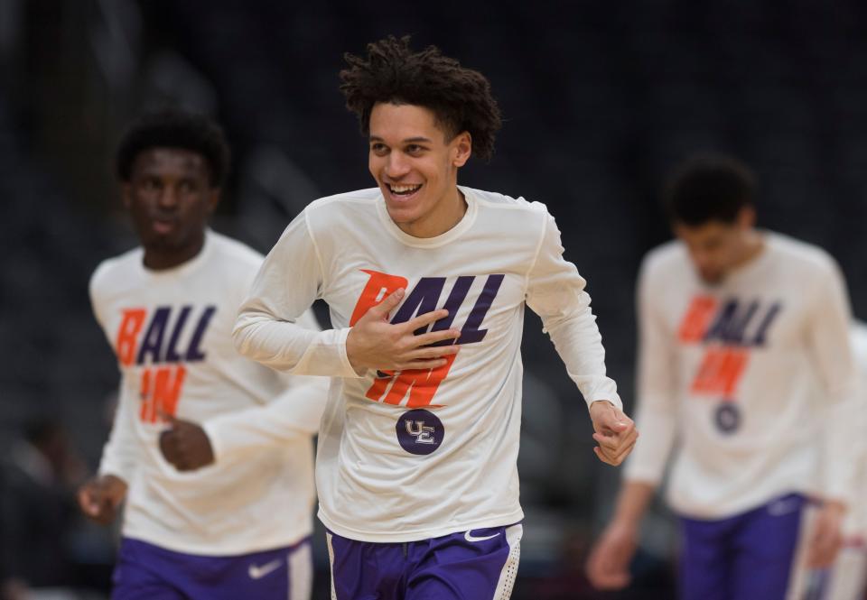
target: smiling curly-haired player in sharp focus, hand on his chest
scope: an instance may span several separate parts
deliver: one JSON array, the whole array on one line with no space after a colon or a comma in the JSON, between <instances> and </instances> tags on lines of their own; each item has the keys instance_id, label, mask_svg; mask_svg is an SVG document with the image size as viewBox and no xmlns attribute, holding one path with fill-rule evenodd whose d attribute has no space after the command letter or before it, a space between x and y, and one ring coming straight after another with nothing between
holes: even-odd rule
<instances>
[{"instance_id":1,"label":"smiling curly-haired player in sharp focus, hand on his chest","mask_svg":"<svg viewBox=\"0 0 867 600\"><path fill-rule=\"evenodd\" d=\"M507 598L523 519L525 305L589 405L601 460L620 464L637 432L554 218L457 184L472 153L493 152L500 118L487 79L406 38L346 58L341 90L378 187L316 200L286 228L236 345L333 378L316 471L334 597ZM335 328L295 326L317 298Z\"/></svg>"}]
</instances>

